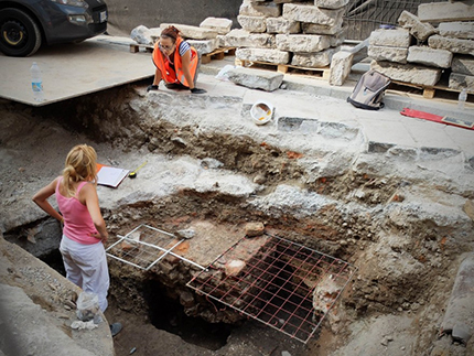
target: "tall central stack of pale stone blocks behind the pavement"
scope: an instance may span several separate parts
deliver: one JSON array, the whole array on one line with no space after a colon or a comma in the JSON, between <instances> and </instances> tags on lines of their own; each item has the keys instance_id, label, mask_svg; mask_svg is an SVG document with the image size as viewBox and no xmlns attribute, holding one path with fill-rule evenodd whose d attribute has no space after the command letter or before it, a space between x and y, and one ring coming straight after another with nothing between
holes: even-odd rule
<instances>
[{"instance_id":1,"label":"tall central stack of pale stone blocks behind the pavement","mask_svg":"<svg viewBox=\"0 0 474 356\"><path fill-rule=\"evenodd\" d=\"M323 68L344 42L348 0L244 0L241 29L222 40L238 47L236 58L304 68Z\"/></svg>"}]
</instances>

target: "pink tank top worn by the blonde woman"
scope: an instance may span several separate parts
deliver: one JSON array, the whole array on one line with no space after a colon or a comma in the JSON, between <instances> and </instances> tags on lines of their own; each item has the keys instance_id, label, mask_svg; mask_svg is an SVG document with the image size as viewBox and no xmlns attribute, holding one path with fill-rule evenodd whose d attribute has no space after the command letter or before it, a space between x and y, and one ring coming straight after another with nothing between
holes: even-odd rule
<instances>
[{"instance_id":1,"label":"pink tank top worn by the blonde woman","mask_svg":"<svg viewBox=\"0 0 474 356\"><path fill-rule=\"evenodd\" d=\"M90 236L90 234L97 234L97 229L87 206L82 204L78 199L80 190L88 182L80 182L77 185L75 196L65 197L60 193L60 184L62 181L63 177L57 181L56 202L64 218L63 234L69 239L84 245L100 242L100 239Z\"/></svg>"}]
</instances>

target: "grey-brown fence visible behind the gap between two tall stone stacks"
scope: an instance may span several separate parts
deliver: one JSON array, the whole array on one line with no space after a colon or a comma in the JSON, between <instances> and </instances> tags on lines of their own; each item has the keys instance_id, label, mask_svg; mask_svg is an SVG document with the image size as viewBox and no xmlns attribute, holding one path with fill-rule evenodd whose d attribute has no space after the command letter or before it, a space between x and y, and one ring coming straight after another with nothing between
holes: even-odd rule
<instances>
[{"instance_id":1,"label":"grey-brown fence visible behind the gap between two tall stone stacks","mask_svg":"<svg viewBox=\"0 0 474 356\"><path fill-rule=\"evenodd\" d=\"M418 14L420 3L445 0L351 0L344 13L346 39L364 41L380 24L398 25L403 10Z\"/></svg>"}]
</instances>

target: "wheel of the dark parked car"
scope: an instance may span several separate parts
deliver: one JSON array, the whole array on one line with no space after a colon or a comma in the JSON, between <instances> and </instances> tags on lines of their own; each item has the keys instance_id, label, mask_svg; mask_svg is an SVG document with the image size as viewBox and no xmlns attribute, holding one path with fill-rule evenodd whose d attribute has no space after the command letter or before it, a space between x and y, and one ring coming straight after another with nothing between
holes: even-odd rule
<instances>
[{"instance_id":1,"label":"wheel of the dark parked car","mask_svg":"<svg viewBox=\"0 0 474 356\"><path fill-rule=\"evenodd\" d=\"M41 46L36 22L18 9L0 10L0 51L13 57L25 57Z\"/></svg>"}]
</instances>

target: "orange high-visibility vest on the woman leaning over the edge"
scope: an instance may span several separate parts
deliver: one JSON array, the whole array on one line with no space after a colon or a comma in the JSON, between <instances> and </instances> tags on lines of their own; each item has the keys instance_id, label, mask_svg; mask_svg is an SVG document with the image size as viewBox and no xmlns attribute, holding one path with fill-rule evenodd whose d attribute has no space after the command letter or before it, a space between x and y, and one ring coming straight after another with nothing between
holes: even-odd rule
<instances>
[{"instance_id":1,"label":"orange high-visibility vest on the woman leaning over the edge","mask_svg":"<svg viewBox=\"0 0 474 356\"><path fill-rule=\"evenodd\" d=\"M168 84L181 83L188 87L190 84L187 83L186 77L184 76L183 62L181 61L181 55L180 55L181 42L183 42L183 39L177 36L176 43L175 43L176 47L174 50L174 69L175 71L173 71L173 68L171 67L166 56L160 51L159 41L157 41L157 43L154 44L152 57L153 57L153 63L157 66L157 68L160 69L161 77L163 78L164 82L166 82ZM193 78L195 77L195 74L197 71L197 62L198 62L197 51L193 46L191 46L190 73L191 73L191 77Z\"/></svg>"}]
</instances>

